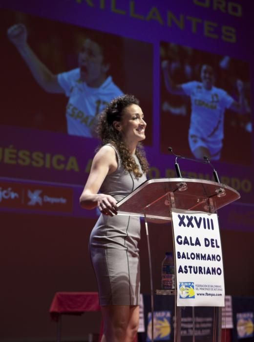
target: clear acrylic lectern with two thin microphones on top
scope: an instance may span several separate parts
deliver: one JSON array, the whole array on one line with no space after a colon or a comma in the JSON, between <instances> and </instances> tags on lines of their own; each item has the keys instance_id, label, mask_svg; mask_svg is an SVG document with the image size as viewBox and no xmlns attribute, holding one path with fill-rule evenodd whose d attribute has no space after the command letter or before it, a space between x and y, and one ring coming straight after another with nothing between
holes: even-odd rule
<instances>
[{"instance_id":1,"label":"clear acrylic lectern with two thin microphones on top","mask_svg":"<svg viewBox=\"0 0 254 342\"><path fill-rule=\"evenodd\" d=\"M157 178L149 179L118 202L118 214L143 216L145 218L151 289L151 315L153 341L153 296L154 293L175 296L174 342L181 341L181 309L176 305L177 290L153 289L151 253L148 235L148 222L172 220L172 209L216 213L216 211L240 198L233 188L210 180L193 178ZM175 252L175 245L173 241ZM176 275L175 275L176 276ZM177 278L176 278L177 280ZM221 307L213 308L212 342L221 342ZM194 309L192 308L194 321ZM194 324L192 341L195 341Z\"/></svg>"}]
</instances>

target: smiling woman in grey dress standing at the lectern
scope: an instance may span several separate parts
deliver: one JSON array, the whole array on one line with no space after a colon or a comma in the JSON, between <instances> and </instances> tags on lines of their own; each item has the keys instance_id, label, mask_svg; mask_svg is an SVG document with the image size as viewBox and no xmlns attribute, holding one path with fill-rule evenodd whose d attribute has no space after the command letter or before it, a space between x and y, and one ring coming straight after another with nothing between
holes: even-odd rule
<instances>
[{"instance_id":1,"label":"smiling woman in grey dress standing at the lectern","mask_svg":"<svg viewBox=\"0 0 254 342\"><path fill-rule=\"evenodd\" d=\"M116 203L146 180L148 162L140 145L146 126L134 96L119 96L108 104L97 127L102 146L80 197L83 208L101 212L89 250L104 320L102 342L131 342L138 330L140 220L117 215Z\"/></svg>"}]
</instances>

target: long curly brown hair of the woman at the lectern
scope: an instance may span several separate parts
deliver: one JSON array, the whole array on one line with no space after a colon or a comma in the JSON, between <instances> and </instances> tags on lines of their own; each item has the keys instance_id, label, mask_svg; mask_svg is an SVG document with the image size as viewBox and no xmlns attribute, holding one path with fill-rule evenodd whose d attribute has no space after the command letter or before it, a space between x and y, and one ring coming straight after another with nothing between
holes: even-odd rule
<instances>
[{"instance_id":1,"label":"long curly brown hair of the woman at the lectern","mask_svg":"<svg viewBox=\"0 0 254 342\"><path fill-rule=\"evenodd\" d=\"M126 171L133 172L139 178L142 173L127 148L122 133L114 128L114 121L121 121L124 109L130 105L139 105L139 100L133 95L121 95L113 99L98 118L96 131L102 140L101 146L112 144L119 151L123 167ZM140 162L141 169L144 173L148 172L148 161L145 150L141 143L138 143L135 154Z\"/></svg>"}]
</instances>

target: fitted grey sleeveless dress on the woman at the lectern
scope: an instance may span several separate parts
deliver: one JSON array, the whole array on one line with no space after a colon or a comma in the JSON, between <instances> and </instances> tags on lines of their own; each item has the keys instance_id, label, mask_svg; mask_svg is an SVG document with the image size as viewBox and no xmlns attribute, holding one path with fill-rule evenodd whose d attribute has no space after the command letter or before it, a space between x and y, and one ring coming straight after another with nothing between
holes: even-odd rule
<instances>
[{"instance_id":1,"label":"fitted grey sleeveless dress on the woman at the lectern","mask_svg":"<svg viewBox=\"0 0 254 342\"><path fill-rule=\"evenodd\" d=\"M118 151L110 146L116 152L118 168L106 176L100 192L113 196L118 202L142 184L146 176L143 174L137 179L133 173L125 171ZM134 158L140 167L138 158L135 155ZM139 240L139 217L100 215L90 235L89 250L101 305L139 304Z\"/></svg>"}]
</instances>

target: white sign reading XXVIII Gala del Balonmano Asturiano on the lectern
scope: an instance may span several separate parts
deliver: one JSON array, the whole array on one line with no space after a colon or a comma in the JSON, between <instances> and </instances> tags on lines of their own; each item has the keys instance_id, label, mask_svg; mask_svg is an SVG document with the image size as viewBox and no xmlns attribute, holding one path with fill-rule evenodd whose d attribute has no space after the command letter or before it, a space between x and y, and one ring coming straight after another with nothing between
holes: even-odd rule
<instances>
[{"instance_id":1,"label":"white sign reading XXVIII Gala del Balonmano Asturiano on the lectern","mask_svg":"<svg viewBox=\"0 0 254 342\"><path fill-rule=\"evenodd\" d=\"M224 306L217 214L172 209L177 306Z\"/></svg>"}]
</instances>

